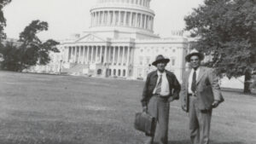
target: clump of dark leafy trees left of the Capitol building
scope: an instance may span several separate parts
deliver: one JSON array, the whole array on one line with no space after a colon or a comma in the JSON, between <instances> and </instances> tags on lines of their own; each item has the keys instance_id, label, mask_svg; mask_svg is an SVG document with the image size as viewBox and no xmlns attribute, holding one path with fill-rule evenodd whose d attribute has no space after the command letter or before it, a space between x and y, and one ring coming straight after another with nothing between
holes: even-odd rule
<instances>
[{"instance_id":1,"label":"clump of dark leafy trees left of the Capitol building","mask_svg":"<svg viewBox=\"0 0 256 144\"><path fill-rule=\"evenodd\" d=\"M20 33L17 46L7 43L0 47L0 53L3 54L3 69L21 72L30 66L48 64L50 60L49 52L59 52L55 47L59 43L53 39L49 39L44 43L41 42L37 34L38 32L47 30L47 22L33 20L32 23L26 26L24 31Z\"/></svg>"}]
</instances>

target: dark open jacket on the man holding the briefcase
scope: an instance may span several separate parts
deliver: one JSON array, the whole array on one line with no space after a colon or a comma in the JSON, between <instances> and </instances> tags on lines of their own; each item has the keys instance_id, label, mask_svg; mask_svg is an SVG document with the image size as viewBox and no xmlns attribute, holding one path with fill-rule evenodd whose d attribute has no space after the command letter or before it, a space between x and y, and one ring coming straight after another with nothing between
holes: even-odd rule
<instances>
[{"instance_id":1,"label":"dark open jacket on the man holding the briefcase","mask_svg":"<svg viewBox=\"0 0 256 144\"><path fill-rule=\"evenodd\" d=\"M148 105L148 101L153 95L153 90L155 88L157 78L157 71L148 73L148 77L146 79L146 83L143 89L143 99L141 100L143 107ZM167 97L172 97L172 99L178 100L181 88L176 76L172 72L166 71L166 78L168 80L170 89L170 94Z\"/></svg>"}]
</instances>

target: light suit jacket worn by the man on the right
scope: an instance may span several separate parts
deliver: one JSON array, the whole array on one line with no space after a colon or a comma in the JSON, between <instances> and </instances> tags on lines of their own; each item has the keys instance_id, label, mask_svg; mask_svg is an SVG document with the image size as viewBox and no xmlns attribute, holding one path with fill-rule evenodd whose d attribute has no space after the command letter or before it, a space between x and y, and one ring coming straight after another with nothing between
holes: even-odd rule
<instances>
[{"instance_id":1,"label":"light suit jacket worn by the man on the right","mask_svg":"<svg viewBox=\"0 0 256 144\"><path fill-rule=\"evenodd\" d=\"M183 75L183 84L181 89L181 103L184 111L189 112L189 74L191 70ZM212 68L200 67L200 72L196 80L196 106L200 110L212 109L213 101L224 101L218 85L218 77Z\"/></svg>"}]
</instances>

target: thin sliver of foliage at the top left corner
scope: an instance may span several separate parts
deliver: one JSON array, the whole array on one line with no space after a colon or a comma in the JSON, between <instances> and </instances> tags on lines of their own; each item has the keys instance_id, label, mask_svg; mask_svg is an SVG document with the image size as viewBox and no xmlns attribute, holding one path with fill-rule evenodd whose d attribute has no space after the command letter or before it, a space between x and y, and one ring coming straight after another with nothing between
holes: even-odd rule
<instances>
[{"instance_id":1,"label":"thin sliver of foliage at the top left corner","mask_svg":"<svg viewBox=\"0 0 256 144\"><path fill-rule=\"evenodd\" d=\"M3 7L10 3L11 0L0 0L0 42L6 37L3 28L6 26L6 20L3 15Z\"/></svg>"}]
</instances>

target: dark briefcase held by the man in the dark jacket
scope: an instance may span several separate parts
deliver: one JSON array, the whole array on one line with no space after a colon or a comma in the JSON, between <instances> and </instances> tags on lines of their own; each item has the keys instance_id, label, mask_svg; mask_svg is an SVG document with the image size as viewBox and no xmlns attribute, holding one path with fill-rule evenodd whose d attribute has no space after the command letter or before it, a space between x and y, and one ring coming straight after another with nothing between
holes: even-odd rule
<instances>
[{"instance_id":1,"label":"dark briefcase held by the man in the dark jacket","mask_svg":"<svg viewBox=\"0 0 256 144\"><path fill-rule=\"evenodd\" d=\"M154 135L155 118L148 114L148 112L137 112L135 114L134 128L143 131L146 135Z\"/></svg>"}]
</instances>

